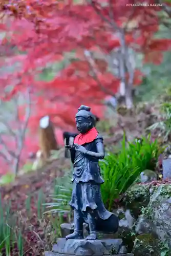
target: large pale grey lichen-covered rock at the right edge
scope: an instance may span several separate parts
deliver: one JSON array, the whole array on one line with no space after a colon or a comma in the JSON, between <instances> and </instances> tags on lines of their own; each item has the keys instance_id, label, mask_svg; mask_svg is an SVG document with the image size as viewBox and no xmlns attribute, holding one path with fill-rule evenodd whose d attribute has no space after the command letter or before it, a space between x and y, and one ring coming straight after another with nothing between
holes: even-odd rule
<instances>
[{"instance_id":1,"label":"large pale grey lichen-covered rock at the right edge","mask_svg":"<svg viewBox=\"0 0 171 256\"><path fill-rule=\"evenodd\" d=\"M171 185L152 188L152 196L136 224L136 232L151 233L171 250Z\"/></svg>"}]
</instances>

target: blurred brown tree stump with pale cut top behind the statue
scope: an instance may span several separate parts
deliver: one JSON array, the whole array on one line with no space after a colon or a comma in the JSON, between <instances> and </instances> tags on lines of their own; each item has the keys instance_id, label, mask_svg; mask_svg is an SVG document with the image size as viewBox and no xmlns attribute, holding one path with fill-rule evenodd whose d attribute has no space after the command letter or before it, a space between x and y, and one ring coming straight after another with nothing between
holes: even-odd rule
<instances>
[{"instance_id":1,"label":"blurred brown tree stump with pale cut top behind the statue","mask_svg":"<svg viewBox=\"0 0 171 256\"><path fill-rule=\"evenodd\" d=\"M39 143L42 158L46 162L51 155L51 150L58 150L53 124L50 121L49 116L45 116L40 119Z\"/></svg>"}]
</instances>

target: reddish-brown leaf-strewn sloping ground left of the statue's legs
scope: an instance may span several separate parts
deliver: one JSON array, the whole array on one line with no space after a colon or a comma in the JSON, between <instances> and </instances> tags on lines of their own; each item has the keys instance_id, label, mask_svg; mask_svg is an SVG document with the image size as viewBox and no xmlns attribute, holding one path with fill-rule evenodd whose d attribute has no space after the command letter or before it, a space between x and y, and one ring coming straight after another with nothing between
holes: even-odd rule
<instances>
[{"instance_id":1,"label":"reddish-brown leaf-strewn sloping ground left of the statue's legs","mask_svg":"<svg viewBox=\"0 0 171 256\"><path fill-rule=\"evenodd\" d=\"M38 256L44 254L45 246L48 243L48 236L50 238L51 234L51 231L47 230L50 220L47 216L43 218L38 217L38 191L41 189L46 202L50 202L55 178L62 176L65 170L70 167L70 161L61 158L35 172L24 174L17 178L14 183L0 188L2 203L9 204L11 202L11 215L17 216L18 226L16 229L22 227L22 235L25 240L24 255ZM28 215L26 209L26 200L29 195L31 196L30 215ZM18 255L15 247L12 250L11 256ZM4 252L3 256L5 255L6 253Z\"/></svg>"}]
</instances>

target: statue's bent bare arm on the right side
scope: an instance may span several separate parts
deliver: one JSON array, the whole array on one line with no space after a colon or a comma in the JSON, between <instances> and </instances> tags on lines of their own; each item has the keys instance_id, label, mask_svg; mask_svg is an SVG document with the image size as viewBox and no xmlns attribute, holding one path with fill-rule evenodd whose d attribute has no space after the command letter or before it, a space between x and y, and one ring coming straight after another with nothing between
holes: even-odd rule
<instances>
[{"instance_id":1,"label":"statue's bent bare arm on the right side","mask_svg":"<svg viewBox=\"0 0 171 256\"><path fill-rule=\"evenodd\" d=\"M95 142L96 142L97 152L88 151L86 155L92 156L97 159L103 159L105 155L103 138L101 136L98 136Z\"/></svg>"}]
</instances>

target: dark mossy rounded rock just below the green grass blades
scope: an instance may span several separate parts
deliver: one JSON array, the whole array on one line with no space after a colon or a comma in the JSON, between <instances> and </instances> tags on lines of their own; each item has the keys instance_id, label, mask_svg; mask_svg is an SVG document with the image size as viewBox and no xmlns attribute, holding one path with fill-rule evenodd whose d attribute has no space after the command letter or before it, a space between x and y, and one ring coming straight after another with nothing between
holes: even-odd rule
<instances>
[{"instance_id":1,"label":"dark mossy rounded rock just below the green grass blades","mask_svg":"<svg viewBox=\"0 0 171 256\"><path fill-rule=\"evenodd\" d=\"M123 205L130 209L133 218L138 219L141 208L146 207L150 198L149 184L134 184L124 195Z\"/></svg>"}]
</instances>

